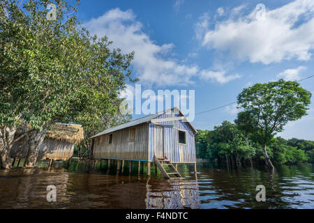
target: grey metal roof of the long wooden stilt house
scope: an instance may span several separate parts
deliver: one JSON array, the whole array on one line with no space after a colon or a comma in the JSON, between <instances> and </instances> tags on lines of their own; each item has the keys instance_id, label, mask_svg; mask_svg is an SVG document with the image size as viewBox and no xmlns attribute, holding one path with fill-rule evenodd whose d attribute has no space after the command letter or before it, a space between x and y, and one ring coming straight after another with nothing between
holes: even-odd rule
<instances>
[{"instance_id":1,"label":"grey metal roof of the long wooden stilt house","mask_svg":"<svg viewBox=\"0 0 314 223\"><path fill-rule=\"evenodd\" d=\"M179 112L181 112L181 110L179 108L177 108L177 107L174 107L173 109L178 109ZM156 118L156 117L160 116L161 114L164 114L165 112L168 112L170 110L171 109L167 109L167 110L165 110L163 112L158 112L156 114L151 114L149 116L145 116L145 117L142 117L142 118L137 118L137 119L135 119L133 121L129 121L128 123L124 123L122 125L118 125L118 126L115 126L115 127L112 127L112 128L108 128L107 130L105 130L103 132L99 132L98 134L95 134L91 138L96 138L96 137L99 137L100 135L103 135L103 134L107 134L107 133L110 133L110 132L115 132L117 130L122 130L124 128L130 128L132 126L140 125L142 123L147 123L147 122L151 121L151 119ZM181 114L184 116L184 114L182 112L181 112ZM194 126L190 122L188 122L188 123L193 128L193 130L195 130L195 133L197 133L197 130L194 128Z\"/></svg>"}]
</instances>

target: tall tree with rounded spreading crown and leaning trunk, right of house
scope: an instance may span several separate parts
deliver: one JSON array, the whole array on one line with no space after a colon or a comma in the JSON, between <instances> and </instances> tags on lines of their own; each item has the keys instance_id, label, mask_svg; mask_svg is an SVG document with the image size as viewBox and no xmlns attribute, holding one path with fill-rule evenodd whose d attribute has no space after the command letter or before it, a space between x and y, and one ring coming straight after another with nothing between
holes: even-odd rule
<instances>
[{"instance_id":1,"label":"tall tree with rounded spreading crown and leaning trunk, right of house","mask_svg":"<svg viewBox=\"0 0 314 223\"><path fill-rule=\"evenodd\" d=\"M264 158L269 169L274 170L267 146L277 132L282 132L289 121L296 121L306 115L311 102L311 93L297 82L255 84L244 89L237 97L238 107L244 112L238 114L235 123L262 145Z\"/></svg>"}]
</instances>

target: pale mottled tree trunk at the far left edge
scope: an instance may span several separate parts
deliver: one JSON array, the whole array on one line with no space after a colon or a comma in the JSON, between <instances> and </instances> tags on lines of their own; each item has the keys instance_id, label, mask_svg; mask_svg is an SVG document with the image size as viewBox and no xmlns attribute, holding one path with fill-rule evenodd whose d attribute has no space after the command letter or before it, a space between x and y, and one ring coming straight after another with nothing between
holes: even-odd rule
<instances>
[{"instance_id":1,"label":"pale mottled tree trunk at the far left edge","mask_svg":"<svg viewBox=\"0 0 314 223\"><path fill-rule=\"evenodd\" d=\"M17 128L15 126L4 126L0 129L0 161L1 168L10 169L10 151L14 144L14 136Z\"/></svg>"}]
</instances>

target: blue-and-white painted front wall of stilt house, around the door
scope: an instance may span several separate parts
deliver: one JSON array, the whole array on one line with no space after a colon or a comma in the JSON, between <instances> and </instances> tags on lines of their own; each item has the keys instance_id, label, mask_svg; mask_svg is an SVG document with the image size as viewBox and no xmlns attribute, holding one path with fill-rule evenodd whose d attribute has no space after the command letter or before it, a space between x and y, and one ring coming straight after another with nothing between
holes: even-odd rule
<instances>
[{"instance_id":1,"label":"blue-and-white painted front wall of stilt house, around the door","mask_svg":"<svg viewBox=\"0 0 314 223\"><path fill-rule=\"evenodd\" d=\"M158 116L158 118L170 118L179 116L179 113L174 111ZM171 162L196 162L195 153L195 137L190 125L184 121L167 121L158 123L164 128L164 152L165 156ZM154 160L154 150L156 150L156 126L149 124L149 161ZM179 144L179 130L186 131L186 144Z\"/></svg>"}]
</instances>

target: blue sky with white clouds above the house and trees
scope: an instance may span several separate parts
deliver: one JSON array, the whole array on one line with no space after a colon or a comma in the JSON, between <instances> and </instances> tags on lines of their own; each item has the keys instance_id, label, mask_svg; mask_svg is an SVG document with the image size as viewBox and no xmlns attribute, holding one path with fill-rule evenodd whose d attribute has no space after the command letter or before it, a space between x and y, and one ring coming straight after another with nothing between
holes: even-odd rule
<instances>
[{"instance_id":1,"label":"blue sky with white clouds above the house and trees","mask_svg":"<svg viewBox=\"0 0 314 223\"><path fill-rule=\"evenodd\" d=\"M313 15L313 0L83 0L77 11L112 48L135 52L131 70L142 91L194 90L195 113L236 102L255 83L314 75ZM314 95L314 77L300 84ZM212 130L236 117L237 106L229 105L192 123ZM314 140L313 99L308 115L278 136Z\"/></svg>"}]
</instances>

